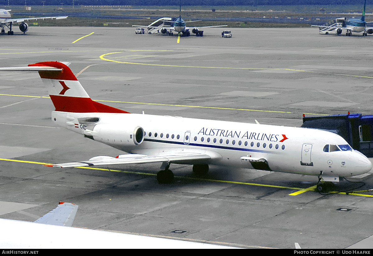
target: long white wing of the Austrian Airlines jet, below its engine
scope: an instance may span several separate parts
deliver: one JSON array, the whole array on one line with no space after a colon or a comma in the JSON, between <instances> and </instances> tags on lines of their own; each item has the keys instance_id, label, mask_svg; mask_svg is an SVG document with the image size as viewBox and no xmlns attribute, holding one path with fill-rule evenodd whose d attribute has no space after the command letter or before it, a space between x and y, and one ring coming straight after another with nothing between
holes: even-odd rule
<instances>
[{"instance_id":1,"label":"long white wing of the Austrian Airlines jet, below its engine","mask_svg":"<svg viewBox=\"0 0 373 256\"><path fill-rule=\"evenodd\" d=\"M124 165L131 163L185 163L198 160L210 160L212 158L219 158L219 156L201 153L176 153L165 154L158 156L147 156L144 154L123 154L117 157L111 156L96 156L88 161L60 163L53 165L45 165L51 167L78 167L78 166L95 166L95 165Z\"/></svg>"}]
</instances>

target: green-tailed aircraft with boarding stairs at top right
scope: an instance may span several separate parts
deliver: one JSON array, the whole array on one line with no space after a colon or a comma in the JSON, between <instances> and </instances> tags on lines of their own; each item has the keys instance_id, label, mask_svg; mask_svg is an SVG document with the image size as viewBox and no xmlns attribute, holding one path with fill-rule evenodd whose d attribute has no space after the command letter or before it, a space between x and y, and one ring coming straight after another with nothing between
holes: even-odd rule
<instances>
[{"instance_id":1,"label":"green-tailed aircraft with boarding stairs at top right","mask_svg":"<svg viewBox=\"0 0 373 256\"><path fill-rule=\"evenodd\" d=\"M373 25L373 22L366 22L365 21L365 4L366 0L364 1L364 9L363 14L360 19L351 18L348 19L345 22L342 22L341 25L337 26L318 26L318 25L311 25L311 26L317 26L319 28L336 28L337 34L342 33L342 29L346 30L346 35L352 35L352 32L363 32L363 35L373 34L373 26L367 26L367 25ZM341 18L339 18L341 20ZM341 30L338 30L341 29Z\"/></svg>"}]
</instances>

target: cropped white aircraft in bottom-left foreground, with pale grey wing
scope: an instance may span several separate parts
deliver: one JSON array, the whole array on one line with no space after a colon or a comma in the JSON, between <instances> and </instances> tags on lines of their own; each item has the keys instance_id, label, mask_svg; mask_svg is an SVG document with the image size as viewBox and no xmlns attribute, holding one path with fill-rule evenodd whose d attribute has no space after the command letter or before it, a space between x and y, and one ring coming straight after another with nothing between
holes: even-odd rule
<instances>
[{"instance_id":1,"label":"cropped white aircraft in bottom-left foreground, with pale grey wing","mask_svg":"<svg viewBox=\"0 0 373 256\"><path fill-rule=\"evenodd\" d=\"M2 249L224 249L234 247L72 227L78 206L60 203L34 222L0 219ZM65 226L65 227L61 227ZM238 248L237 248L238 249Z\"/></svg>"}]
</instances>

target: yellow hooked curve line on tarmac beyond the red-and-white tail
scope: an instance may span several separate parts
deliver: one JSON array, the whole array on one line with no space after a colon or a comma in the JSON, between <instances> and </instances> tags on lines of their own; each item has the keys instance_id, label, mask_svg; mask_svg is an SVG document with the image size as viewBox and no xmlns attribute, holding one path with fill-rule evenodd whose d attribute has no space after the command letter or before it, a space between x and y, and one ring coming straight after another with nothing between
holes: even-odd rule
<instances>
[{"instance_id":1,"label":"yellow hooked curve line on tarmac beyond the red-and-white tail","mask_svg":"<svg viewBox=\"0 0 373 256\"><path fill-rule=\"evenodd\" d=\"M308 71L308 70L301 70L301 69L289 69L289 68L232 68L232 67L210 67L210 66L181 66L181 65L163 65L163 64L150 64L150 63L138 63L138 62L123 62L117 60L110 60L104 58L104 56L115 54L115 53L122 53L123 51L116 51L113 53L105 53L100 56L100 59L110 61L110 62L117 62L117 63L125 63L125 64L136 64L136 65L148 65L148 66L164 66L164 67L178 67L178 68L216 68L216 69L245 69L245 70L288 70L288 71L299 71L299 72L308 72L308 73L317 73L317 74L329 74L329 75L342 75L346 77L364 77L364 78L373 78L373 77L366 77L360 75L347 75L347 74L335 74L335 73L328 73L328 72L317 72L317 71Z\"/></svg>"}]
</instances>

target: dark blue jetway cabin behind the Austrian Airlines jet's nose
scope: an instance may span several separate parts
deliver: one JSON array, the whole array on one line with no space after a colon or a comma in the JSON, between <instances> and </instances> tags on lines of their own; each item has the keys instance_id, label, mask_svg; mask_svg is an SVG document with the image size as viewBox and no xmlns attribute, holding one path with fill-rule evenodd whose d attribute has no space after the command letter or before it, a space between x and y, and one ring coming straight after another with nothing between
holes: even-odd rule
<instances>
[{"instance_id":1,"label":"dark blue jetway cabin behind the Austrian Airlines jet's nose","mask_svg":"<svg viewBox=\"0 0 373 256\"><path fill-rule=\"evenodd\" d=\"M304 128L322 129L343 137L353 149L373 157L373 115L361 114L304 117Z\"/></svg>"}]
</instances>

